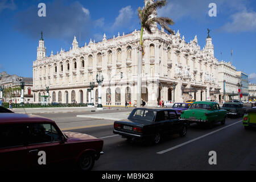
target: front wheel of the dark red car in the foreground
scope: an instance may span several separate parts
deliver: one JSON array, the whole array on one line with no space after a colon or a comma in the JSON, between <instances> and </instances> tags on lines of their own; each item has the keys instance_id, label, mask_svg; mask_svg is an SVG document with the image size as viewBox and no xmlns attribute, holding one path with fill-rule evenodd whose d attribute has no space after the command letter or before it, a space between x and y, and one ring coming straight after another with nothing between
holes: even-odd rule
<instances>
[{"instance_id":1,"label":"front wheel of the dark red car in the foreground","mask_svg":"<svg viewBox=\"0 0 256 182\"><path fill-rule=\"evenodd\" d=\"M95 163L95 158L93 154L83 154L78 162L77 162L77 167L81 171L89 171L90 169L93 168Z\"/></svg>"}]
</instances>

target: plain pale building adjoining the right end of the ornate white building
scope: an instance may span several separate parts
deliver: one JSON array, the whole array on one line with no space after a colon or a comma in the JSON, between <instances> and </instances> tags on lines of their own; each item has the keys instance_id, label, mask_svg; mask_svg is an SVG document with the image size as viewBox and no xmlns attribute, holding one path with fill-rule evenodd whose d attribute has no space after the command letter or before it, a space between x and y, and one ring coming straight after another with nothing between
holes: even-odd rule
<instances>
[{"instance_id":1,"label":"plain pale building adjoining the right end of the ornate white building","mask_svg":"<svg viewBox=\"0 0 256 182\"><path fill-rule=\"evenodd\" d=\"M219 100L239 100L238 82L236 67L231 62L218 62L218 85L221 87Z\"/></svg>"}]
</instances>

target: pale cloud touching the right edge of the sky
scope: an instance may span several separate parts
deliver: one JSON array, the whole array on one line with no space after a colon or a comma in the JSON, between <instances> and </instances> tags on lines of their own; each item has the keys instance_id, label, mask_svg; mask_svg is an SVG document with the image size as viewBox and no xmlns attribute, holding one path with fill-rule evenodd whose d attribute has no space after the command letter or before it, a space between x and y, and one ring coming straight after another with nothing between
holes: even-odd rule
<instances>
[{"instance_id":1,"label":"pale cloud touching the right edge of the sky","mask_svg":"<svg viewBox=\"0 0 256 182\"><path fill-rule=\"evenodd\" d=\"M239 12L231 16L232 22L221 27L226 32L256 31L256 12Z\"/></svg>"}]
</instances>

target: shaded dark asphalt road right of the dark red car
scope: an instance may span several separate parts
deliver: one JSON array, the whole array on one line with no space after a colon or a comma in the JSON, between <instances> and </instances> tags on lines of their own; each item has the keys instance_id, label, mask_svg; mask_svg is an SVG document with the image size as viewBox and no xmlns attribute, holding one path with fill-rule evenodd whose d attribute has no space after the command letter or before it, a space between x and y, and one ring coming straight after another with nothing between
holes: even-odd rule
<instances>
[{"instance_id":1,"label":"shaded dark asphalt road right of the dark red car","mask_svg":"<svg viewBox=\"0 0 256 182\"><path fill-rule=\"evenodd\" d=\"M112 133L113 126L73 131L104 139L105 155L96 162L94 170L256 170L256 131L244 130L241 120L229 118L225 126L216 123L213 129L192 125L186 137L172 135L157 146L128 143ZM202 136L205 137L199 138ZM209 151L217 152L217 165L209 165Z\"/></svg>"}]
</instances>

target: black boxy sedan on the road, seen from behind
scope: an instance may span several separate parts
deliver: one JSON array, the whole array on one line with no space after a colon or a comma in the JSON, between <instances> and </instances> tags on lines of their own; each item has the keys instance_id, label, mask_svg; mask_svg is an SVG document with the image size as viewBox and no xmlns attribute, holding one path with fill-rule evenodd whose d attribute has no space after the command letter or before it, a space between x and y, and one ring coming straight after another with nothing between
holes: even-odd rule
<instances>
[{"instance_id":1,"label":"black boxy sedan on the road, seen from behind","mask_svg":"<svg viewBox=\"0 0 256 182\"><path fill-rule=\"evenodd\" d=\"M114 134L127 139L146 139L158 144L165 134L187 134L188 125L173 109L136 108L125 121L114 122Z\"/></svg>"}]
</instances>

